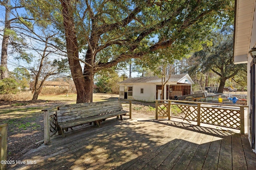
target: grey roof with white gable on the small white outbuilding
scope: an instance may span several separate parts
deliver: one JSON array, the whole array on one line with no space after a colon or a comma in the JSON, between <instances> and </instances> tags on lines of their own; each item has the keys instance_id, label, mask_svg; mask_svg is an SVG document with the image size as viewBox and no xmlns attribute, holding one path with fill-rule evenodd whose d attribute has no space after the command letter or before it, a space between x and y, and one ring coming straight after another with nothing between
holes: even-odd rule
<instances>
[{"instance_id":1,"label":"grey roof with white gable on the small white outbuilding","mask_svg":"<svg viewBox=\"0 0 256 170\"><path fill-rule=\"evenodd\" d=\"M192 81L192 79L190 78L190 76L188 74L173 74L170 77L170 80L168 80L168 82L172 82L172 83L185 83L182 82L183 78L188 78L190 80L190 82L192 82L192 84L194 84L194 82ZM169 78L169 75L166 76L166 79ZM153 76L153 77L136 77L136 78L128 78L122 82L120 82L120 84L134 84L134 83L161 83L162 82L162 78L159 78L158 76Z\"/></svg>"}]
</instances>

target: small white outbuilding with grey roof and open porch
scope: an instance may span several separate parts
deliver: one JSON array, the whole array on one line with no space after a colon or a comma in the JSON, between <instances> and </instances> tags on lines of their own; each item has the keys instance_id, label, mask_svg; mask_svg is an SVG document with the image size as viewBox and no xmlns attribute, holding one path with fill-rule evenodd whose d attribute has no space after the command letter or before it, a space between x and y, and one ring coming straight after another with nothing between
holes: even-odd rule
<instances>
[{"instance_id":1,"label":"small white outbuilding with grey roof and open porch","mask_svg":"<svg viewBox=\"0 0 256 170\"><path fill-rule=\"evenodd\" d=\"M169 76L166 76L168 80ZM188 74L171 75L164 85L162 97L162 78L137 77L128 78L119 83L120 99L140 100L154 102L158 99L174 99L174 96L192 94L192 84L194 82Z\"/></svg>"}]
</instances>

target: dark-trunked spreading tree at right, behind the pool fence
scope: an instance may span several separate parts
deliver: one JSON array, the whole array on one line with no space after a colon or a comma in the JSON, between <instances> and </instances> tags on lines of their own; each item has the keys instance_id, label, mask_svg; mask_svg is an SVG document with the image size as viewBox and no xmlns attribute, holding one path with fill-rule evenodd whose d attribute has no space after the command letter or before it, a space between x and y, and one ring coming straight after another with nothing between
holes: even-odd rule
<instances>
[{"instance_id":1,"label":"dark-trunked spreading tree at right, behind the pool fence","mask_svg":"<svg viewBox=\"0 0 256 170\"><path fill-rule=\"evenodd\" d=\"M190 72L214 72L219 76L218 93L222 93L226 80L234 78L246 65L234 64L232 25L225 24L221 29L213 30L206 39L204 48L190 59L193 61Z\"/></svg>"}]
</instances>

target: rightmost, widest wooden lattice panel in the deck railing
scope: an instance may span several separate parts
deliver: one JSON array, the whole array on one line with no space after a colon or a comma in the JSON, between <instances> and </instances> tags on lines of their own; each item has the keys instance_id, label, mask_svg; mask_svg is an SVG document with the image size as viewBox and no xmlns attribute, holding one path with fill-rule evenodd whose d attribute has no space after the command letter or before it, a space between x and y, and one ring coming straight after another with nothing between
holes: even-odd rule
<instances>
[{"instance_id":1,"label":"rightmost, widest wooden lattice panel in the deck railing","mask_svg":"<svg viewBox=\"0 0 256 170\"><path fill-rule=\"evenodd\" d=\"M201 107L201 122L240 129L240 110Z\"/></svg>"}]
</instances>

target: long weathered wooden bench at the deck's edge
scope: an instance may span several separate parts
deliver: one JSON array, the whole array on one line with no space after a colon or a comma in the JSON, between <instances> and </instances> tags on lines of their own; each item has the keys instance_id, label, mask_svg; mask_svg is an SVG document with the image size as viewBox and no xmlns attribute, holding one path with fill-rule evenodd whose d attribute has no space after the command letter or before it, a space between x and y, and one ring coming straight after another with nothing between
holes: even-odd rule
<instances>
[{"instance_id":1,"label":"long weathered wooden bench at the deck's edge","mask_svg":"<svg viewBox=\"0 0 256 170\"><path fill-rule=\"evenodd\" d=\"M94 122L101 127L101 122L110 117L118 117L123 120L122 115L129 113L123 110L119 101L92 102L81 104L64 105L57 108L57 125L63 137L64 130L68 128ZM59 133L60 133L59 132Z\"/></svg>"}]
</instances>

